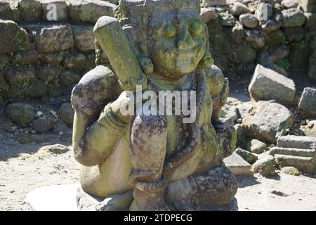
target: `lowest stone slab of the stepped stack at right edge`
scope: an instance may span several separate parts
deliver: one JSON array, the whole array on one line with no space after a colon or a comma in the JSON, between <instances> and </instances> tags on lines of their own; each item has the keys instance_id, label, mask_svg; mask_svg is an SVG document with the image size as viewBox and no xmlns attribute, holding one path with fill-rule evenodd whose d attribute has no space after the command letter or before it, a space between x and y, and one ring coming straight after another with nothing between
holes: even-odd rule
<instances>
[{"instance_id":1,"label":"lowest stone slab of the stepped stack at right edge","mask_svg":"<svg viewBox=\"0 0 316 225\"><path fill-rule=\"evenodd\" d=\"M315 160L311 157L275 154L275 162L282 167L296 167L301 172L315 172Z\"/></svg>"}]
</instances>

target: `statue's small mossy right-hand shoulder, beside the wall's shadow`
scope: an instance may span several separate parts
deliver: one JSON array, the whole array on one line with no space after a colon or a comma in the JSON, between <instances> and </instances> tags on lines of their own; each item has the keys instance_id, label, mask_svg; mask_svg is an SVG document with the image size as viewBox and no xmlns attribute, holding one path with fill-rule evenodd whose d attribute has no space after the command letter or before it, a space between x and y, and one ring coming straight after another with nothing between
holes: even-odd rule
<instances>
[{"instance_id":1,"label":"statue's small mossy right-hand shoulder, beside the wall's shadow","mask_svg":"<svg viewBox=\"0 0 316 225\"><path fill-rule=\"evenodd\" d=\"M209 68L204 68L204 74L211 96L215 96L220 93L225 84L225 77L220 68L216 65L212 65Z\"/></svg>"}]
</instances>

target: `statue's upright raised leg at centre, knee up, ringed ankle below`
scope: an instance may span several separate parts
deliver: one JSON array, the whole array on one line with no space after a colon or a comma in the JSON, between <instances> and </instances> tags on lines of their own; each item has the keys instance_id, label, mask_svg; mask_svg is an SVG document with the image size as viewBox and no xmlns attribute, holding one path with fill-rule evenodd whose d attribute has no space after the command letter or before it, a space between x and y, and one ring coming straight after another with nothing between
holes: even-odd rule
<instances>
[{"instance_id":1,"label":"statue's upright raised leg at centre, knee up, ringed ankle below","mask_svg":"<svg viewBox=\"0 0 316 225\"><path fill-rule=\"evenodd\" d=\"M162 168L166 155L166 119L137 115L131 126L131 165L129 181L134 186L137 210L167 210L166 182Z\"/></svg>"}]
</instances>

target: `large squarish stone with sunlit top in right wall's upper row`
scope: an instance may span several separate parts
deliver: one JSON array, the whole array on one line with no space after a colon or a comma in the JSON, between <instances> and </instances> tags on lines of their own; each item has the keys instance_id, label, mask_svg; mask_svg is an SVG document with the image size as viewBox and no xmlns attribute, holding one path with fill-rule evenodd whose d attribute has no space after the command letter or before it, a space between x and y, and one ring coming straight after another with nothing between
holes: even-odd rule
<instances>
[{"instance_id":1,"label":"large squarish stone with sunlit top in right wall's upper row","mask_svg":"<svg viewBox=\"0 0 316 225\"><path fill-rule=\"evenodd\" d=\"M305 15L296 8L289 8L282 11L282 27L299 27L305 23Z\"/></svg>"}]
</instances>

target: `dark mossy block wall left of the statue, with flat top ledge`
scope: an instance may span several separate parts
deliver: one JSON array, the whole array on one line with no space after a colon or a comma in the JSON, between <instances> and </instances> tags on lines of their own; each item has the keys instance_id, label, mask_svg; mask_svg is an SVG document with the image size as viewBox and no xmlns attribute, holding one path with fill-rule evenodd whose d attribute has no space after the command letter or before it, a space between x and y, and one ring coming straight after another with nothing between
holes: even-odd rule
<instances>
[{"instance_id":1,"label":"dark mossy block wall left of the statue, with flat top ledge","mask_svg":"<svg viewBox=\"0 0 316 225\"><path fill-rule=\"evenodd\" d=\"M117 1L113 1L117 3ZM51 5L56 20L50 21ZM114 4L96 0L0 0L0 96L70 94L95 67L93 25Z\"/></svg>"}]
</instances>

